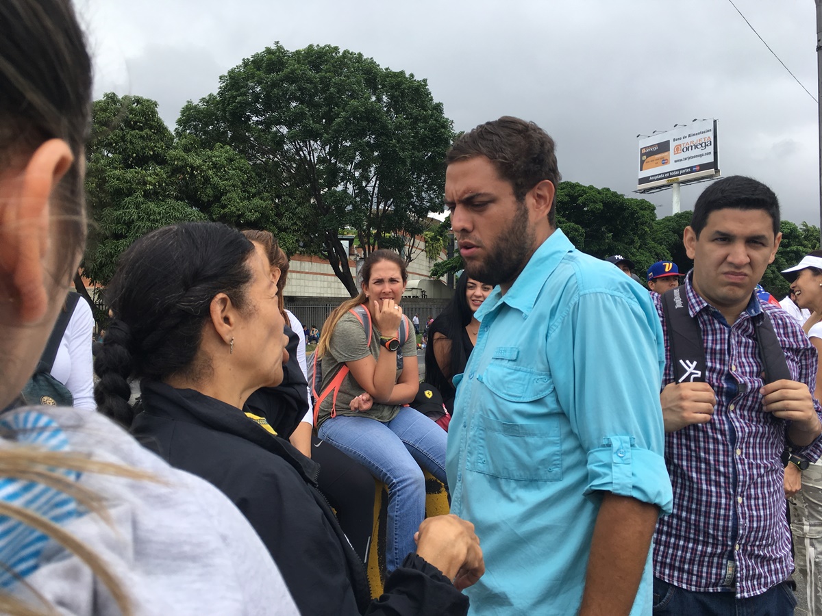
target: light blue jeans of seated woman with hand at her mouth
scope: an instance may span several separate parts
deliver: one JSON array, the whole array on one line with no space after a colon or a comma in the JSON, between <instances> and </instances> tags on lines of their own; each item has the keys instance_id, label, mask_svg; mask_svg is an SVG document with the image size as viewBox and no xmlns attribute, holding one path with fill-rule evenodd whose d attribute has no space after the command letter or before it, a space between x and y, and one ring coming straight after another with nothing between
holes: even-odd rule
<instances>
[{"instance_id":1,"label":"light blue jeans of seated woman with hand at her mouth","mask_svg":"<svg viewBox=\"0 0 822 616\"><path fill-rule=\"evenodd\" d=\"M394 571L415 549L425 519L425 477L446 483L445 430L410 407L386 423L369 417L327 419L317 435L362 464L388 486L386 568Z\"/></svg>"}]
</instances>

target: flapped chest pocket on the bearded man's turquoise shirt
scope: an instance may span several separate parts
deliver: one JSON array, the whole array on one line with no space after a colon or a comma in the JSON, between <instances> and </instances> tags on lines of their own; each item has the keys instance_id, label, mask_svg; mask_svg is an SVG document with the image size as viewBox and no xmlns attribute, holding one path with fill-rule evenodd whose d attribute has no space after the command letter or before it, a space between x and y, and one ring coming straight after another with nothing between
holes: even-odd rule
<instances>
[{"instance_id":1,"label":"flapped chest pocket on the bearded man's turquoise shirt","mask_svg":"<svg viewBox=\"0 0 822 616\"><path fill-rule=\"evenodd\" d=\"M508 480L561 480L561 416L551 376L492 363L479 380L496 394L489 401L494 414L510 421L473 414L468 469Z\"/></svg>"}]
</instances>

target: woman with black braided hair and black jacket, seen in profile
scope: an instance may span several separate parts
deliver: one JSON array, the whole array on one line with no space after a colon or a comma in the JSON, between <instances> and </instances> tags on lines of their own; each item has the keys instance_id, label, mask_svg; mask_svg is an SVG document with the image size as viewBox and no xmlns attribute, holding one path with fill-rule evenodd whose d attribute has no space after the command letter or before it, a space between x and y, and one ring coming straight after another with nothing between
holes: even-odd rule
<instances>
[{"instance_id":1,"label":"woman with black braided hair and black jacket, seen in profile","mask_svg":"<svg viewBox=\"0 0 822 616\"><path fill-rule=\"evenodd\" d=\"M467 613L459 589L484 570L473 526L450 515L423 522L416 554L371 601L363 564L317 490L316 462L246 416L247 398L280 384L288 360L261 246L218 223L158 229L123 253L107 291L114 318L95 360L99 410L237 505L301 614ZM141 379L136 416L129 377Z\"/></svg>"}]
</instances>

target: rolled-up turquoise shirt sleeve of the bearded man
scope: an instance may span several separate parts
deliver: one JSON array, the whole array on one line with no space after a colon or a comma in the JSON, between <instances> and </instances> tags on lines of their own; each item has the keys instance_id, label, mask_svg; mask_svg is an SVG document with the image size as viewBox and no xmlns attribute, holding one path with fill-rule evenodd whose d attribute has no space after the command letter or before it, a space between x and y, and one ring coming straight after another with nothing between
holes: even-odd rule
<instances>
[{"instance_id":1,"label":"rolled-up turquoise shirt sleeve of the bearded man","mask_svg":"<svg viewBox=\"0 0 822 616\"><path fill-rule=\"evenodd\" d=\"M580 293L548 336L549 348L573 349L573 361L552 370L561 407L587 451L584 494L630 496L671 513L659 403L663 333L647 292Z\"/></svg>"}]
</instances>

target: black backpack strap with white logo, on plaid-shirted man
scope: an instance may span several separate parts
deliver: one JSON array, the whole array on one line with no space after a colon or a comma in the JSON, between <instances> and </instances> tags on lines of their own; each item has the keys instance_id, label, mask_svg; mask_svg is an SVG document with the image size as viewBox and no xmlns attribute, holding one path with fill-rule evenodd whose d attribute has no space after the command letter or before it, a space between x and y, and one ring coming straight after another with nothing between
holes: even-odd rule
<instances>
[{"instance_id":1,"label":"black backpack strap with white logo, on plaid-shirted man","mask_svg":"<svg viewBox=\"0 0 822 616\"><path fill-rule=\"evenodd\" d=\"M688 312L685 287L664 292L662 301L674 379L677 383L704 383L707 362L702 331Z\"/></svg>"}]
</instances>

